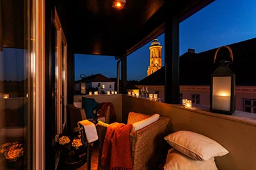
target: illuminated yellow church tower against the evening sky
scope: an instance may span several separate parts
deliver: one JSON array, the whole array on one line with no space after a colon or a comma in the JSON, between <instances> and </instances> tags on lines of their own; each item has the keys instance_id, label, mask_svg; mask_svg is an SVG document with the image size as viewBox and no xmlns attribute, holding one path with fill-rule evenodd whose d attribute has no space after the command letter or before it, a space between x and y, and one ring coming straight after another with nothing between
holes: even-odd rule
<instances>
[{"instance_id":1,"label":"illuminated yellow church tower against the evening sky","mask_svg":"<svg viewBox=\"0 0 256 170\"><path fill-rule=\"evenodd\" d=\"M147 76L156 72L162 67L162 46L158 39L154 39L149 47L150 59Z\"/></svg>"}]
</instances>

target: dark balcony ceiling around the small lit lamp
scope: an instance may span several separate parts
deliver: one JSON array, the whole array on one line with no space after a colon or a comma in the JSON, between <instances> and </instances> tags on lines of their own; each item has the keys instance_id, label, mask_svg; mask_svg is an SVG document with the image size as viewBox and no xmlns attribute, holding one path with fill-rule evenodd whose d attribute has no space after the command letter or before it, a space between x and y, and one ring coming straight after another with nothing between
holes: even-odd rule
<instances>
[{"instance_id":1,"label":"dark balcony ceiling around the small lit lamp","mask_svg":"<svg viewBox=\"0 0 256 170\"><path fill-rule=\"evenodd\" d=\"M170 0L168 0L170 1ZM180 22L214 0L177 0ZM178 3L175 4L174 3ZM74 53L121 55L164 24L164 0L126 0L122 10L112 0L72 1L68 20L69 44ZM168 9L169 10L169 9ZM170 9L172 10L172 9ZM71 31L70 31L71 30ZM162 32L163 33L163 29ZM154 36L154 35L153 35ZM144 40L143 43L147 40ZM140 43L141 44L141 43Z\"/></svg>"}]
</instances>

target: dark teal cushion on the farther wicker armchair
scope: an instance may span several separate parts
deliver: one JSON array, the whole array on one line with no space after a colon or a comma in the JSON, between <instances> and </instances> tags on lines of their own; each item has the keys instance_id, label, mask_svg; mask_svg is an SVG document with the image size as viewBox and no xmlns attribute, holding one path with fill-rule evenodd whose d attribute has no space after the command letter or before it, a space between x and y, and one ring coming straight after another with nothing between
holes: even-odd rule
<instances>
[{"instance_id":1,"label":"dark teal cushion on the farther wicker armchair","mask_svg":"<svg viewBox=\"0 0 256 170\"><path fill-rule=\"evenodd\" d=\"M97 109L99 103L93 98L82 97L82 108L87 118L94 118L93 110Z\"/></svg>"}]
</instances>

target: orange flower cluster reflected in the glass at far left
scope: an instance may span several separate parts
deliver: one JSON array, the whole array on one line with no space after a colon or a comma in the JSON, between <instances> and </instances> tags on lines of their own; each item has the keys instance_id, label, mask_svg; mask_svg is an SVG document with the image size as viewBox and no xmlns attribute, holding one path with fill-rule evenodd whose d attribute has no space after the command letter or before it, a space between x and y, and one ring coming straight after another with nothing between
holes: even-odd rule
<instances>
[{"instance_id":1,"label":"orange flower cluster reflected in the glass at far left","mask_svg":"<svg viewBox=\"0 0 256 170\"><path fill-rule=\"evenodd\" d=\"M0 153L2 153L8 162L16 162L19 157L24 155L24 148L20 143L4 143L0 146Z\"/></svg>"}]
</instances>

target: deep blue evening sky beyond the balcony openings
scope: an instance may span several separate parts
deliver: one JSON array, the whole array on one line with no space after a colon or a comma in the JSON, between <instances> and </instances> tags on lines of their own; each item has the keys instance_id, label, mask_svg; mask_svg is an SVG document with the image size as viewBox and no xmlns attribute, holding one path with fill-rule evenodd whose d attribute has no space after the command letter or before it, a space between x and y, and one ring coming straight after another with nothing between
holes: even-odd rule
<instances>
[{"instance_id":1,"label":"deep blue evening sky beyond the balcony openings","mask_svg":"<svg viewBox=\"0 0 256 170\"><path fill-rule=\"evenodd\" d=\"M203 10L180 23L180 55L194 48L204 52L221 45L237 43L256 37L256 1L216 0ZM164 34L158 37L163 45ZM150 43L127 57L127 80L141 80L147 76ZM76 55L75 76L102 73L116 77L115 57Z\"/></svg>"}]
</instances>

